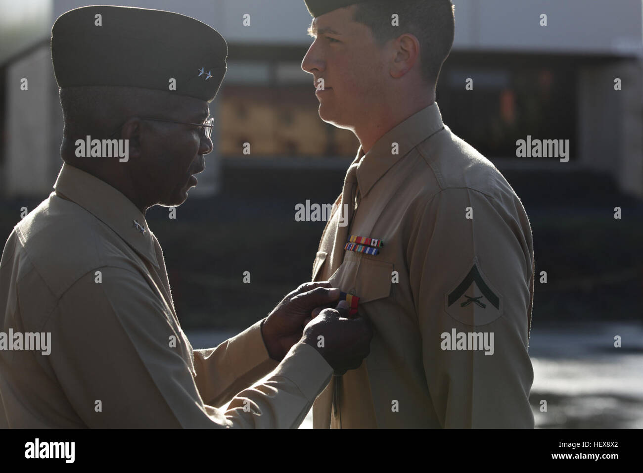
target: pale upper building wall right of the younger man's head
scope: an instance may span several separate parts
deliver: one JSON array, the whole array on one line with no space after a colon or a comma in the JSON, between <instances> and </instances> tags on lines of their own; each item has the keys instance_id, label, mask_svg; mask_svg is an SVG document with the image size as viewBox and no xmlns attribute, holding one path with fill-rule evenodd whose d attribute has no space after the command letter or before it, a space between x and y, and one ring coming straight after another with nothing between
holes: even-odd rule
<instances>
[{"instance_id":1,"label":"pale upper building wall right of the younger man's head","mask_svg":"<svg viewBox=\"0 0 643 473\"><path fill-rule=\"evenodd\" d=\"M457 49L640 53L641 0L453 0ZM540 26L547 14L548 26Z\"/></svg>"}]
</instances>

